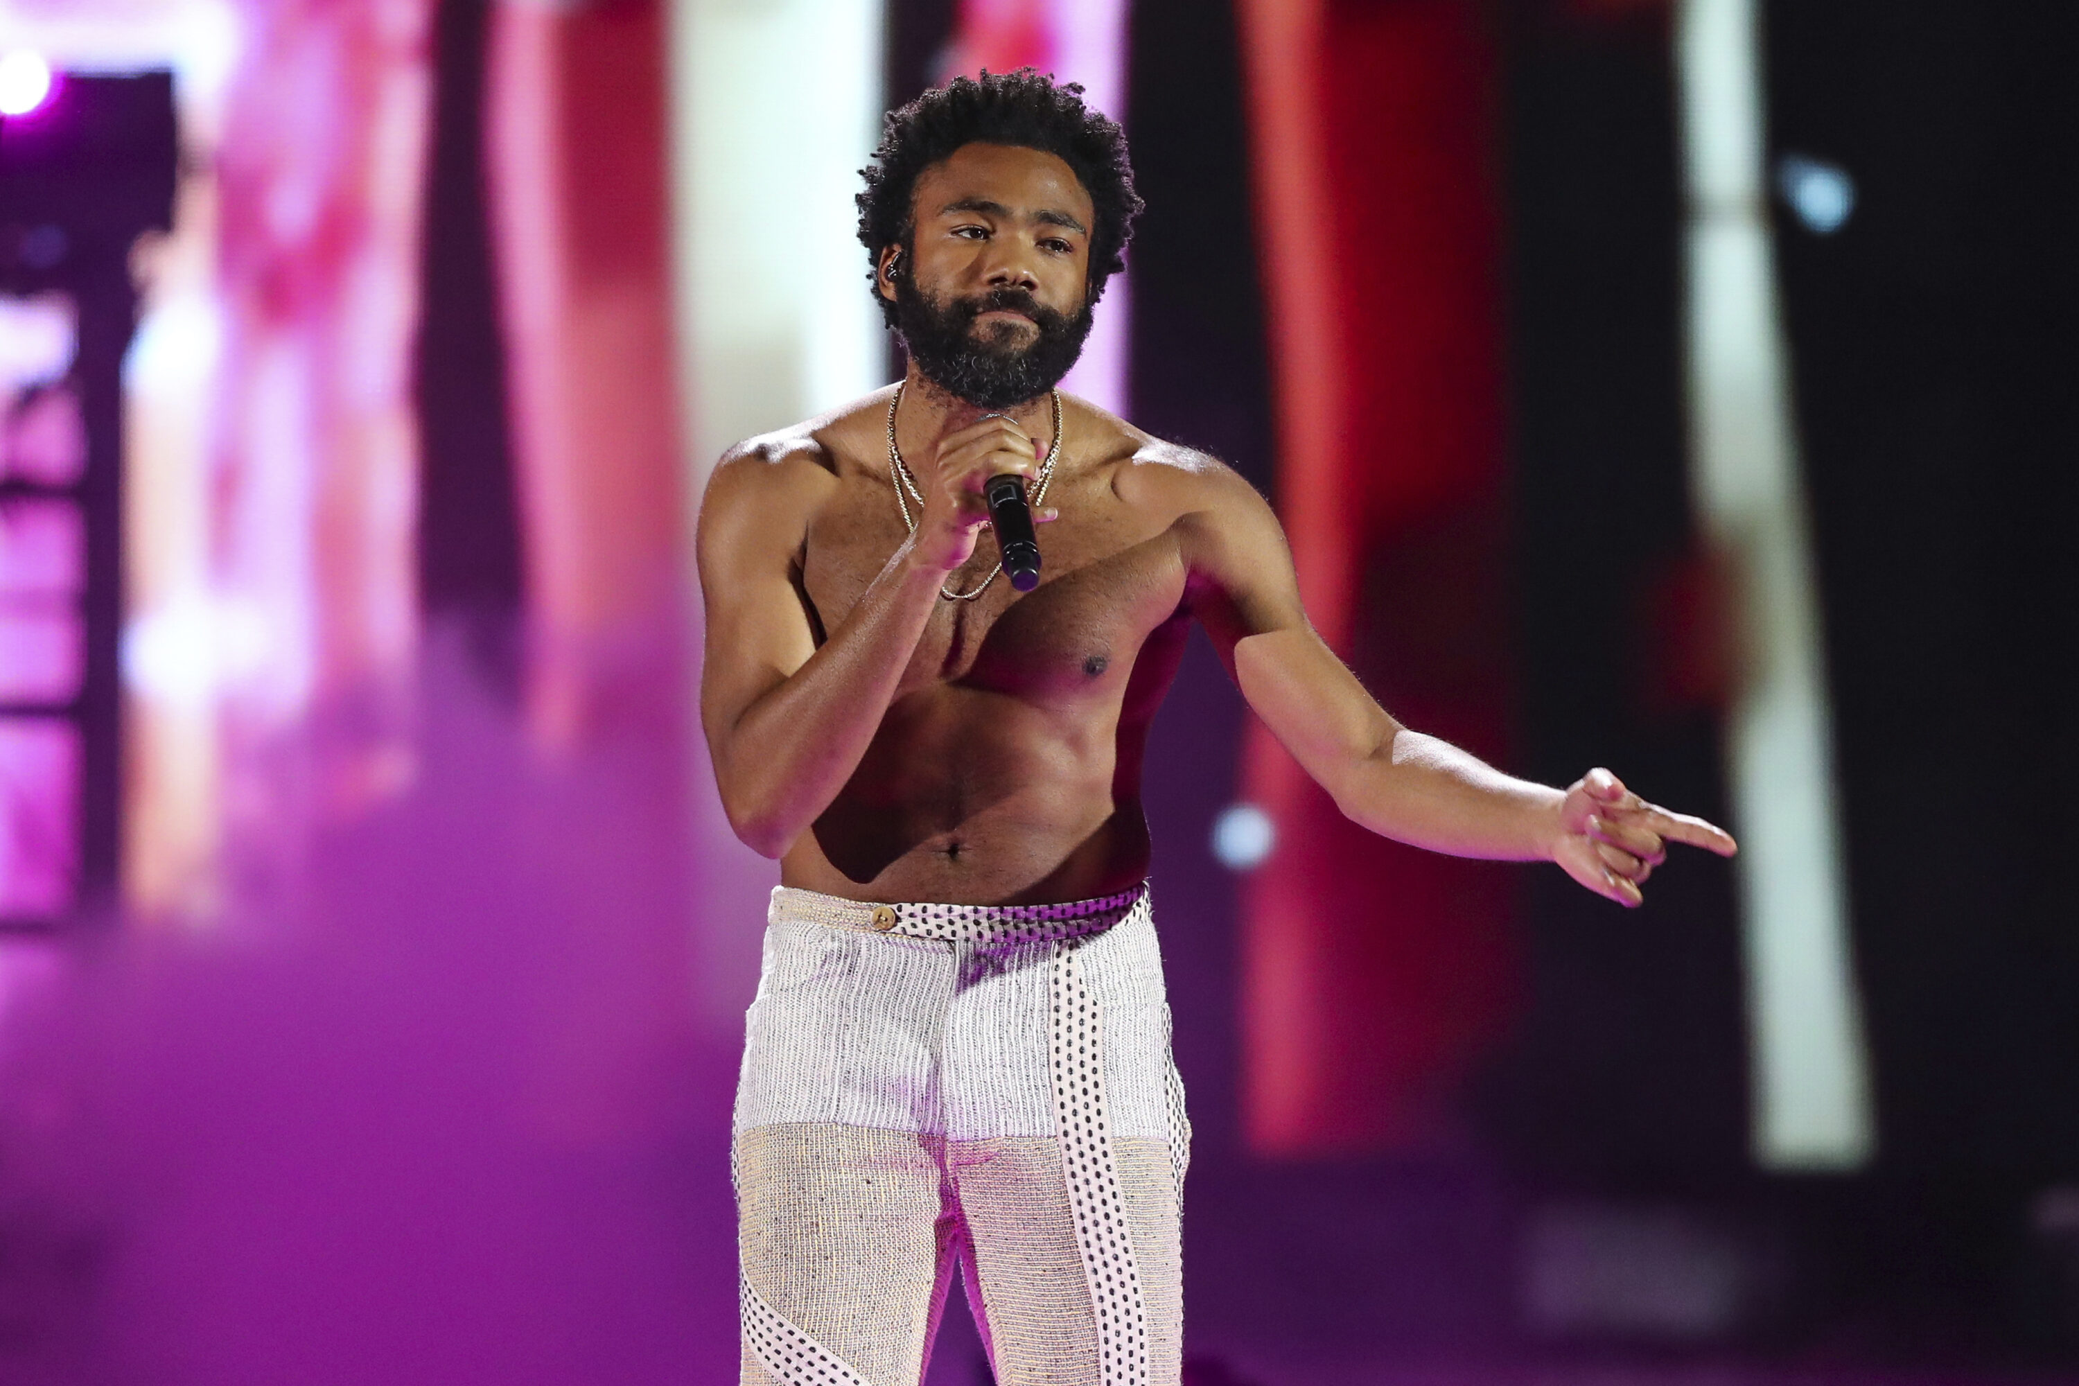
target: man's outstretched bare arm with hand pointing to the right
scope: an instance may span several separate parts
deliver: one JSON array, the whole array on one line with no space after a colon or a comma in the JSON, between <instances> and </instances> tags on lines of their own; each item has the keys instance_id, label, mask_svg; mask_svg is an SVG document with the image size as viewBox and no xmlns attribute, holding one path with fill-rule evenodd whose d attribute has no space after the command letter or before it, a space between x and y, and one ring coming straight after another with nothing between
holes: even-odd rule
<instances>
[{"instance_id":1,"label":"man's outstretched bare arm with hand pointing to the right","mask_svg":"<svg viewBox=\"0 0 2079 1386\"><path fill-rule=\"evenodd\" d=\"M1191 611L1256 715L1351 821L1453 856L1553 860L1626 906L1642 902L1667 842L1736 850L1723 829L1644 802L1605 769L1553 790L1397 723L1306 619L1262 497L1218 465L1193 484L1202 495L1179 522Z\"/></svg>"}]
</instances>

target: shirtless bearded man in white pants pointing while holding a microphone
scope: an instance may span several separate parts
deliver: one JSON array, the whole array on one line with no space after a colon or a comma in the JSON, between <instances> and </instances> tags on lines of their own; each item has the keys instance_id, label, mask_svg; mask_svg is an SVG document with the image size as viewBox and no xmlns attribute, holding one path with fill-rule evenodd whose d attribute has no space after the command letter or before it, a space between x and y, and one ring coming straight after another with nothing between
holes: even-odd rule
<instances>
[{"instance_id":1,"label":"shirtless bearded man in white pants pointing while holding a microphone","mask_svg":"<svg viewBox=\"0 0 2079 1386\"><path fill-rule=\"evenodd\" d=\"M1393 721L1235 472L1052 387L1139 199L1031 71L888 118L861 239L900 384L753 438L701 513L701 707L782 862L736 1108L744 1382L911 1386L954 1263L1004 1386L1175 1386L1189 1126L1139 777L1187 623L1358 823L1622 904L1663 842L1607 771L1511 779ZM1044 582L981 538L1027 478Z\"/></svg>"}]
</instances>

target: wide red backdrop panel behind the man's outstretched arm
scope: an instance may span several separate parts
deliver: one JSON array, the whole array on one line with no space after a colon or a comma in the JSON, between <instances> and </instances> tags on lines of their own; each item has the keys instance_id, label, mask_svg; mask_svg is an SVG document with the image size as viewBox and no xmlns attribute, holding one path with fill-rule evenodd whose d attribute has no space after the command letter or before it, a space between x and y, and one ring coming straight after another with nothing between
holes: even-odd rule
<instances>
[{"instance_id":1,"label":"wide red backdrop panel behind the man's outstretched arm","mask_svg":"<svg viewBox=\"0 0 2079 1386\"><path fill-rule=\"evenodd\" d=\"M1403 723L1507 756L1495 54L1462 0L1243 0L1308 611ZM1279 846L1243 891L1243 1120L1270 1155L1449 1141L1516 1008L1511 879L1372 837L1252 731Z\"/></svg>"}]
</instances>

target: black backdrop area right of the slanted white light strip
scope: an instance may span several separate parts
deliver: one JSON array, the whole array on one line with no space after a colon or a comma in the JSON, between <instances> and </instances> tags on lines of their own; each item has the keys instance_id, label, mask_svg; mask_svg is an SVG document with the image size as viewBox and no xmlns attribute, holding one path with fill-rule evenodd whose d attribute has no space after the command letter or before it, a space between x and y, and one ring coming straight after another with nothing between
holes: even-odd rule
<instances>
[{"instance_id":1,"label":"black backdrop area right of the slanted white light strip","mask_svg":"<svg viewBox=\"0 0 2079 1386\"><path fill-rule=\"evenodd\" d=\"M2075 64L2069 4L1767 6L1771 152L1857 189L1775 241L1879 1122L1846 1245L1915 1326L2010 1332L2079 1178Z\"/></svg>"}]
</instances>

